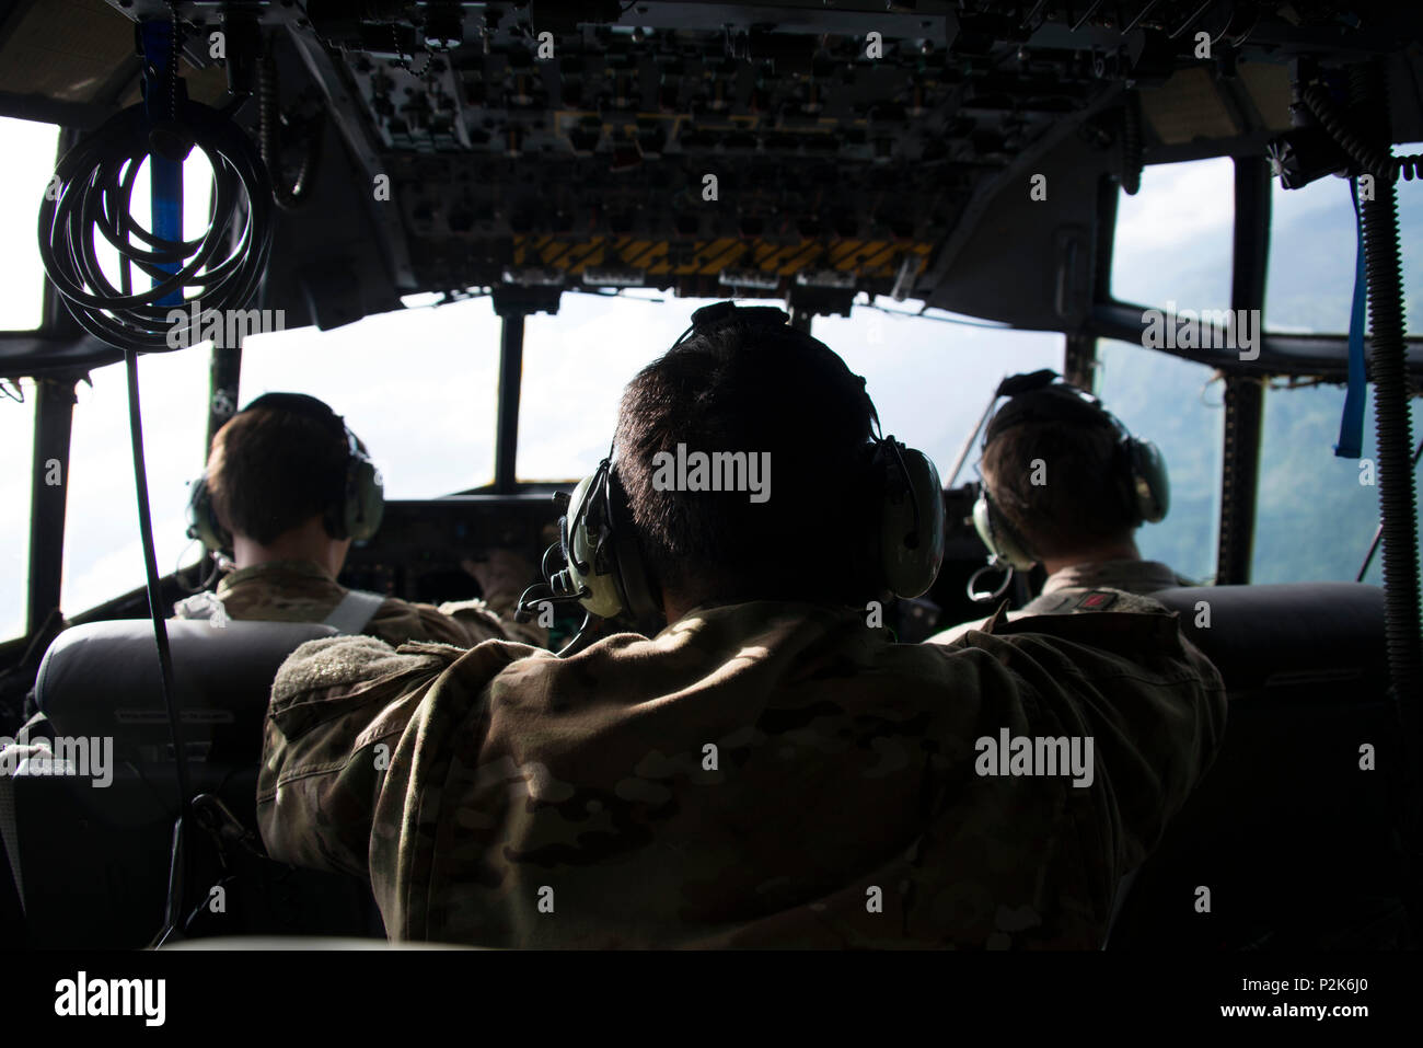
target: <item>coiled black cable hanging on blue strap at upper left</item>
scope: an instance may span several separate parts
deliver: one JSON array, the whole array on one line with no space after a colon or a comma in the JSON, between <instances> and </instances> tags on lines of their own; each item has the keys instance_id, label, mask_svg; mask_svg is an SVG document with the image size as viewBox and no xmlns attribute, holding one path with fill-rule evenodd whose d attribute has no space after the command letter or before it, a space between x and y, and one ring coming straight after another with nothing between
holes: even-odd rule
<instances>
[{"instance_id":1,"label":"coiled black cable hanging on blue strap at upper left","mask_svg":"<svg viewBox=\"0 0 1423 1048\"><path fill-rule=\"evenodd\" d=\"M169 339L171 306L159 305L165 299L198 299L205 313L245 308L272 249L272 189L250 140L226 115L199 103L181 103L175 115L164 128L168 137L191 137L212 164L212 209L202 238L164 239L132 218L134 182L155 148L142 104L70 150L55 168L55 191L40 205L46 275L84 330L124 350L181 347ZM118 288L98 262L95 234L118 252ZM134 290L134 269L154 286ZM195 296L185 296L194 290Z\"/></svg>"}]
</instances>

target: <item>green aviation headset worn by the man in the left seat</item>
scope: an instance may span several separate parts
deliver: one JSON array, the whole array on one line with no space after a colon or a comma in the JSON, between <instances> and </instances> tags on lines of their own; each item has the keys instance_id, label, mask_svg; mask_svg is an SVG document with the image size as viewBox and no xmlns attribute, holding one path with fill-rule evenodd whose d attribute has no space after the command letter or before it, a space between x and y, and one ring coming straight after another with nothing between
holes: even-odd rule
<instances>
[{"instance_id":1,"label":"green aviation headset worn by the man in the left seat","mask_svg":"<svg viewBox=\"0 0 1423 1048\"><path fill-rule=\"evenodd\" d=\"M327 404L305 393L266 393L238 414L258 407L314 419L342 439L346 444L346 480L342 498L326 508L322 523L332 538L360 541L374 535L386 508L386 494L380 473L366 453L366 444L350 431L346 420ZM202 541L211 551L229 555L232 552L232 534L218 521L218 514L212 507L206 470L194 481L192 493L188 496L188 537Z\"/></svg>"}]
</instances>

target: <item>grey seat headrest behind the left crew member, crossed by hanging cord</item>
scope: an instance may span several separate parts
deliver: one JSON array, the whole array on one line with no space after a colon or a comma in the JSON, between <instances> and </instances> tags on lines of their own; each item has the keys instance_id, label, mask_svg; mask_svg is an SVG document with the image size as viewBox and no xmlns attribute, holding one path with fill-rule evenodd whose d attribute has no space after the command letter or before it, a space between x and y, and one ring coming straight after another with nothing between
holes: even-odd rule
<instances>
[{"instance_id":1,"label":"grey seat headrest behind the left crew member, crossed by hanging cord","mask_svg":"<svg viewBox=\"0 0 1423 1048\"><path fill-rule=\"evenodd\" d=\"M336 631L319 622L169 619L184 748L216 758L260 748L276 671L299 645ZM118 753L166 759L171 736L148 619L87 622L50 645L34 682L55 735L112 736Z\"/></svg>"}]
</instances>

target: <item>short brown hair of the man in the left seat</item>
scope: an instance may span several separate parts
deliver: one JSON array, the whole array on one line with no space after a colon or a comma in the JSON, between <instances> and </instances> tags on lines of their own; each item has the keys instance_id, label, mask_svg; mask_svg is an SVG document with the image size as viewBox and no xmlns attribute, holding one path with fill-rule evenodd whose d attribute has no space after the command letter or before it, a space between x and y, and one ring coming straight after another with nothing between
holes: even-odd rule
<instances>
[{"instance_id":1,"label":"short brown hair of the man in the left seat","mask_svg":"<svg viewBox=\"0 0 1423 1048\"><path fill-rule=\"evenodd\" d=\"M324 517L344 497L349 453L344 436L312 414L277 407L242 412L212 439L213 513L233 534L266 545L314 515Z\"/></svg>"}]
</instances>

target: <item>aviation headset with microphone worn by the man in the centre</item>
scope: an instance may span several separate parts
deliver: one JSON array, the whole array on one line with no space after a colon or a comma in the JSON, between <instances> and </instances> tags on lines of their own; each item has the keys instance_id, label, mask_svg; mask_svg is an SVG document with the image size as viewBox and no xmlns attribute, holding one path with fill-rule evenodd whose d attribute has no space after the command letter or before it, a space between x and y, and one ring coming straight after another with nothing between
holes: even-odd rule
<instances>
[{"instance_id":1,"label":"aviation headset with microphone worn by the man in the centre","mask_svg":"<svg viewBox=\"0 0 1423 1048\"><path fill-rule=\"evenodd\" d=\"M692 315L692 326L673 349L692 336L729 323L746 323L793 333L791 337L803 339L807 349L834 356L818 339L787 326L788 319L783 310L768 306L719 302ZM868 396L865 400L868 403ZM878 429L874 406L868 406ZM896 597L918 597L933 584L943 561L943 491L938 470L928 456L906 449L892 436L872 437L867 451L872 497L879 500L877 528L867 540L875 581ZM548 585L525 591L519 601L522 618L531 618L531 608L544 599L576 602L599 618L629 615L636 622L649 622L662 615L628 494L612 459L609 449L598 470L579 481L572 496L561 497L568 501L558 523L559 541L544 555Z\"/></svg>"}]
</instances>

